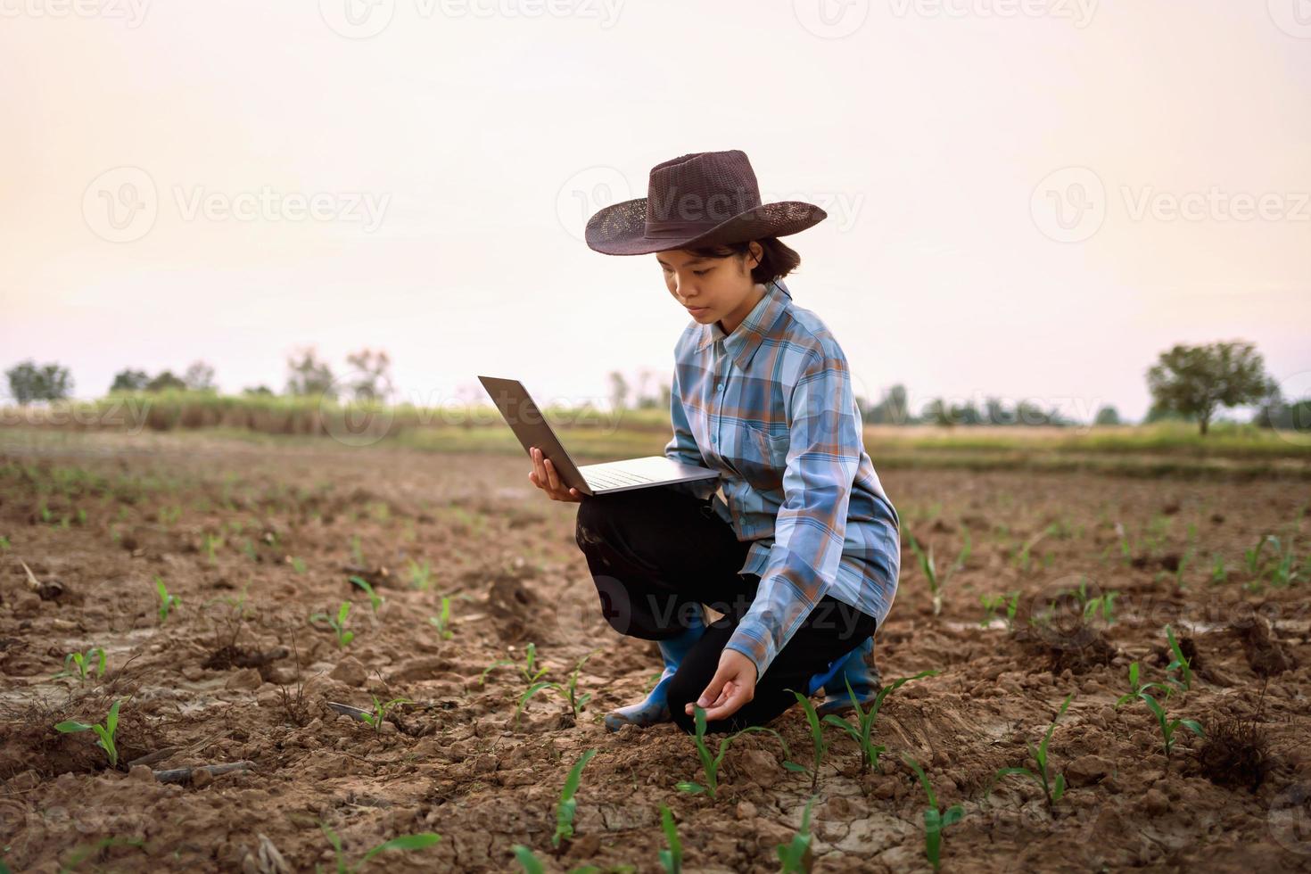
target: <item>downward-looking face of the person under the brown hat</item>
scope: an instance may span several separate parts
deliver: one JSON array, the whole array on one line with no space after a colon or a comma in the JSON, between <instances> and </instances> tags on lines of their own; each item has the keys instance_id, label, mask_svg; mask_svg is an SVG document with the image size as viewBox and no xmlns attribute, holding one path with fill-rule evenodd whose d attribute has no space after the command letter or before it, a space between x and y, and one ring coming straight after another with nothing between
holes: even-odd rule
<instances>
[{"instance_id":1,"label":"downward-looking face of the person under the brown hat","mask_svg":"<svg viewBox=\"0 0 1311 874\"><path fill-rule=\"evenodd\" d=\"M656 253L665 286L674 300L701 325L718 321L732 334L758 303L751 269L763 253L758 244L745 256L703 258L686 249Z\"/></svg>"}]
</instances>

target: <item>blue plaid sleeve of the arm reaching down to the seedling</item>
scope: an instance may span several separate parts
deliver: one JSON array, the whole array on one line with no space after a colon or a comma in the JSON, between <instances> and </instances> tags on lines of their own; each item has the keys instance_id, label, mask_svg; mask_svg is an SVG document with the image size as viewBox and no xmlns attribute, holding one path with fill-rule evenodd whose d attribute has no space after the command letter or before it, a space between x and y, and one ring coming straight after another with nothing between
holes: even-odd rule
<instances>
[{"instance_id":1,"label":"blue plaid sleeve of the arm reaching down to the seedling","mask_svg":"<svg viewBox=\"0 0 1311 874\"><path fill-rule=\"evenodd\" d=\"M755 600L725 645L755 663L756 680L838 575L864 451L851 375L839 349L817 349L808 356L789 396L788 432L784 502L768 565Z\"/></svg>"}]
</instances>

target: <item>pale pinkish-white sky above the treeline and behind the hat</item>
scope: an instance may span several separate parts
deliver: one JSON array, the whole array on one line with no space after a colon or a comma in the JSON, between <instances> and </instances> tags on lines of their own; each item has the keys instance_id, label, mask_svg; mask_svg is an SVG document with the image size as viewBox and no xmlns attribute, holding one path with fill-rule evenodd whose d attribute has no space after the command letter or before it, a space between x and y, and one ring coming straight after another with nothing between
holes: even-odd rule
<instances>
[{"instance_id":1,"label":"pale pinkish-white sky above the treeline and behind the hat","mask_svg":"<svg viewBox=\"0 0 1311 874\"><path fill-rule=\"evenodd\" d=\"M872 400L1137 418L1159 351L1235 338L1297 381L1306 7L0 0L0 368L281 389L300 346L371 346L402 400L603 398L688 317L582 223L739 148L829 211L788 284Z\"/></svg>"}]
</instances>

